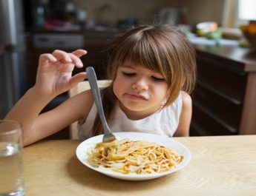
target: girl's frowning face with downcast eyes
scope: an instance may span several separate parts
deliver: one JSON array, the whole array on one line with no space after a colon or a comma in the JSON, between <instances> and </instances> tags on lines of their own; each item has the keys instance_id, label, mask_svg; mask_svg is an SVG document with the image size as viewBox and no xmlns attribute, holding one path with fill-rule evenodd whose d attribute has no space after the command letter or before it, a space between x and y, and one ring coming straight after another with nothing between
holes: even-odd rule
<instances>
[{"instance_id":1,"label":"girl's frowning face with downcast eyes","mask_svg":"<svg viewBox=\"0 0 256 196\"><path fill-rule=\"evenodd\" d=\"M113 90L123 112L137 120L160 109L168 84L159 72L125 62L117 70Z\"/></svg>"}]
</instances>

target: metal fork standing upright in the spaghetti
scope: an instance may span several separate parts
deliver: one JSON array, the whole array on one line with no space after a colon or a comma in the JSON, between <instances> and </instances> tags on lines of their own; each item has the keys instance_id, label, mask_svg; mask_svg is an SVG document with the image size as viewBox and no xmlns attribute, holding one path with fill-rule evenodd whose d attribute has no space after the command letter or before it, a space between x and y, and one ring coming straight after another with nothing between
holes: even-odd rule
<instances>
[{"instance_id":1,"label":"metal fork standing upright in the spaghetti","mask_svg":"<svg viewBox=\"0 0 256 196\"><path fill-rule=\"evenodd\" d=\"M102 126L104 129L102 142L107 143L107 142L114 141L116 140L116 137L111 133L111 130L108 127L108 123L105 119L105 115L102 107L102 99L99 94L99 87L97 84L96 73L93 67L86 67L86 72L87 72L89 84L91 86L91 92L93 93L93 98L95 100L95 104L99 112L99 118L100 118L100 121L102 122Z\"/></svg>"}]
</instances>

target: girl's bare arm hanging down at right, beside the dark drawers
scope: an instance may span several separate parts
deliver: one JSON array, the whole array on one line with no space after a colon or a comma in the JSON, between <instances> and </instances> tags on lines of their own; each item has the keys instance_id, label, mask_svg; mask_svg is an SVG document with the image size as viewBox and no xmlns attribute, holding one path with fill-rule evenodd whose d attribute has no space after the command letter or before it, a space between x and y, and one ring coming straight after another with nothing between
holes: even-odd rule
<instances>
[{"instance_id":1,"label":"girl's bare arm hanging down at right, beside the dark drawers","mask_svg":"<svg viewBox=\"0 0 256 196\"><path fill-rule=\"evenodd\" d=\"M187 93L183 94L183 109L180 114L180 121L174 137L188 137L192 117L192 100Z\"/></svg>"}]
</instances>

